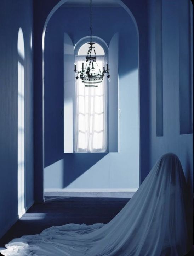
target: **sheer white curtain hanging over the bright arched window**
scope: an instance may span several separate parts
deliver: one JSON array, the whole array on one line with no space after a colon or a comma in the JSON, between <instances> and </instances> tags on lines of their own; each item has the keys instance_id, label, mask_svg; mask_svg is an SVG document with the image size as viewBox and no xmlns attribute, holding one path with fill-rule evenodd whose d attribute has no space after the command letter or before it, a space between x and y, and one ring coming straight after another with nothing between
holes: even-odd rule
<instances>
[{"instance_id":1,"label":"sheer white curtain hanging over the bright arched window","mask_svg":"<svg viewBox=\"0 0 194 256\"><path fill-rule=\"evenodd\" d=\"M76 57L76 69L86 65L85 56ZM106 56L98 56L95 70L106 67ZM75 148L76 153L96 153L107 150L107 76L98 87L85 87L81 79L75 83Z\"/></svg>"}]
</instances>

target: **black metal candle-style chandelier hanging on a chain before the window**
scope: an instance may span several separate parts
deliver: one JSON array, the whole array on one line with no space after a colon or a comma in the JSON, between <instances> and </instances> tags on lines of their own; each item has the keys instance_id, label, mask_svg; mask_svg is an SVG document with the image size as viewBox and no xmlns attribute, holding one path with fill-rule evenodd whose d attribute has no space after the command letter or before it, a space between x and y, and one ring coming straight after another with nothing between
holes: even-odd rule
<instances>
[{"instance_id":1,"label":"black metal candle-style chandelier hanging on a chain before the window","mask_svg":"<svg viewBox=\"0 0 194 256\"><path fill-rule=\"evenodd\" d=\"M92 42L92 0L90 0L90 42L88 43L89 49L86 55L86 64L82 62L82 69L76 70L76 64L74 65L74 71L77 74L76 79L81 79L82 83L86 87L98 87L98 84L102 82L104 75L107 73L108 79L110 78L108 63L106 64L106 69L103 67L101 71L96 62L96 51L94 47L94 42Z\"/></svg>"}]
</instances>

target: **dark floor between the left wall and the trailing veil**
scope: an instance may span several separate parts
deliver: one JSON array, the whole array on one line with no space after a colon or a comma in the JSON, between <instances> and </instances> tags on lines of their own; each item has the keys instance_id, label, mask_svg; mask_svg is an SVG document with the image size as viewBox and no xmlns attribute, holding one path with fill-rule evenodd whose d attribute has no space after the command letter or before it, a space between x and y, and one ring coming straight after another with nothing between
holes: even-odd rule
<instances>
[{"instance_id":1,"label":"dark floor between the left wall and the trailing veil","mask_svg":"<svg viewBox=\"0 0 194 256\"><path fill-rule=\"evenodd\" d=\"M108 223L128 201L127 198L46 197L44 204L34 204L0 239L0 247L13 238L39 234L50 226ZM191 255L194 248L187 254Z\"/></svg>"}]
</instances>

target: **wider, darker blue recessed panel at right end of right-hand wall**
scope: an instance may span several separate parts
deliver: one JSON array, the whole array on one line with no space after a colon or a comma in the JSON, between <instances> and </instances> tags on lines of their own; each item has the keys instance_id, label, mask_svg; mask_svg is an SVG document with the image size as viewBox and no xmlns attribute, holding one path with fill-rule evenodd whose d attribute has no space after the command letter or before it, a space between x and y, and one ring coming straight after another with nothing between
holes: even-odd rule
<instances>
[{"instance_id":1,"label":"wider, darker blue recessed panel at right end of right-hand wall","mask_svg":"<svg viewBox=\"0 0 194 256\"><path fill-rule=\"evenodd\" d=\"M179 3L180 134L192 133L190 1Z\"/></svg>"}]
</instances>

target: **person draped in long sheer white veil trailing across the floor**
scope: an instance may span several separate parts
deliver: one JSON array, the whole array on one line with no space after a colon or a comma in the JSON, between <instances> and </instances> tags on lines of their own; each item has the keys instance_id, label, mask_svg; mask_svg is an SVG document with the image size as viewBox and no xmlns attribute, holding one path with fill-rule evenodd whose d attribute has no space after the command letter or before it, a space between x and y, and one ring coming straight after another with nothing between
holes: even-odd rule
<instances>
[{"instance_id":1,"label":"person draped in long sheer white veil trailing across the floor","mask_svg":"<svg viewBox=\"0 0 194 256\"><path fill-rule=\"evenodd\" d=\"M183 256L192 245L192 214L181 163L163 155L108 224L52 226L13 239L6 256Z\"/></svg>"}]
</instances>

